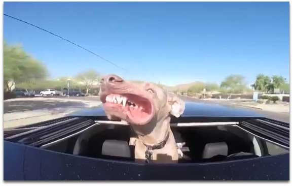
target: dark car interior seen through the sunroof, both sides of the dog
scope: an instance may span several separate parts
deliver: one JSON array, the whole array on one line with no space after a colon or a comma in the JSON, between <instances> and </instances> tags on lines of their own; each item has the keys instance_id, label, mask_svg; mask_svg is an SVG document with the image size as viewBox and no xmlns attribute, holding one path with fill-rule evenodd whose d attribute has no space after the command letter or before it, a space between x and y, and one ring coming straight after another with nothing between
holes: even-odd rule
<instances>
[{"instance_id":1,"label":"dark car interior seen through the sunroof, both sides of the dog","mask_svg":"<svg viewBox=\"0 0 293 186\"><path fill-rule=\"evenodd\" d=\"M183 156L178 163L229 161L269 156L266 143L236 126L172 127ZM91 158L134 162L131 127L96 125L79 135L41 148Z\"/></svg>"}]
</instances>

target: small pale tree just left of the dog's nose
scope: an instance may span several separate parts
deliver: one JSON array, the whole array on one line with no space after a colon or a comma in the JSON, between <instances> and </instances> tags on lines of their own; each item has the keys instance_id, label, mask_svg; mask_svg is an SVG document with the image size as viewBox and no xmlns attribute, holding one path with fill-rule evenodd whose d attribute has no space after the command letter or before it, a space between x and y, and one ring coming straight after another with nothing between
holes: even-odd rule
<instances>
[{"instance_id":1,"label":"small pale tree just left of the dog's nose","mask_svg":"<svg viewBox=\"0 0 293 186\"><path fill-rule=\"evenodd\" d=\"M95 70L88 70L86 72L78 74L76 76L76 80L80 81L85 86L86 94L88 94L93 85L99 82L100 75Z\"/></svg>"}]
</instances>

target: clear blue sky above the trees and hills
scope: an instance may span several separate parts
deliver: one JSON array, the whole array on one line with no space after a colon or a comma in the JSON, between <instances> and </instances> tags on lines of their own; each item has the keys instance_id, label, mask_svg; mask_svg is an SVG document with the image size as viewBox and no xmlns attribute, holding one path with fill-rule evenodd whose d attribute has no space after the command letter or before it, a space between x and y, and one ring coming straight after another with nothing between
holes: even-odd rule
<instances>
[{"instance_id":1,"label":"clear blue sky above the trees and hills","mask_svg":"<svg viewBox=\"0 0 293 186\"><path fill-rule=\"evenodd\" d=\"M4 17L4 39L48 67L51 78L95 69L166 85L230 74L289 80L289 3L4 3L39 25L127 69Z\"/></svg>"}]
</instances>

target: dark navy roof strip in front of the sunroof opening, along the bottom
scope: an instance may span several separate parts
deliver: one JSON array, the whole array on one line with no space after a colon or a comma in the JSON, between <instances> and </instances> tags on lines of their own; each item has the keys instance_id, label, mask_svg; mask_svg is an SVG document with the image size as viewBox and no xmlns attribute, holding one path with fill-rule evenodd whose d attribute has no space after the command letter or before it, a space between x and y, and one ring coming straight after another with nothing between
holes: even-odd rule
<instances>
[{"instance_id":1,"label":"dark navy roof strip in front of the sunroof opening, along the bottom","mask_svg":"<svg viewBox=\"0 0 293 186\"><path fill-rule=\"evenodd\" d=\"M289 180L289 158L286 153L225 162L143 164L77 156L4 140L3 176L14 181Z\"/></svg>"}]
</instances>

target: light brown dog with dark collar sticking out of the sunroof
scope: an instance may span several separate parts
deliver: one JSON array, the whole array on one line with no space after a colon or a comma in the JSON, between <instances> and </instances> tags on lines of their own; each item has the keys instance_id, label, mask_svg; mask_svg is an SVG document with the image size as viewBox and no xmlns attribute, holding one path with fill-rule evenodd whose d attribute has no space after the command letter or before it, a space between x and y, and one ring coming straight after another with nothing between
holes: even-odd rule
<instances>
[{"instance_id":1,"label":"light brown dog with dark collar sticking out of the sunroof","mask_svg":"<svg viewBox=\"0 0 293 186\"><path fill-rule=\"evenodd\" d=\"M136 161L178 161L170 115L183 113L182 100L155 84L124 81L112 74L101 79L100 99L108 119L125 120L136 133Z\"/></svg>"}]
</instances>

